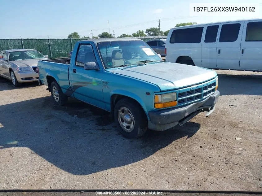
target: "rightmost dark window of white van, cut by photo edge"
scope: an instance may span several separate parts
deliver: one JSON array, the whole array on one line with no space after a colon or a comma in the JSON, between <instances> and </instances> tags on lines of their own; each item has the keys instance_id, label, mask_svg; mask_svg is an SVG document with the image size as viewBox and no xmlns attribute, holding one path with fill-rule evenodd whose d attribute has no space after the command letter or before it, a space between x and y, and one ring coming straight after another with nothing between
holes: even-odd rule
<instances>
[{"instance_id":1,"label":"rightmost dark window of white van, cut by photo edge","mask_svg":"<svg viewBox=\"0 0 262 196\"><path fill-rule=\"evenodd\" d=\"M247 23L246 41L262 41L262 22Z\"/></svg>"}]
</instances>

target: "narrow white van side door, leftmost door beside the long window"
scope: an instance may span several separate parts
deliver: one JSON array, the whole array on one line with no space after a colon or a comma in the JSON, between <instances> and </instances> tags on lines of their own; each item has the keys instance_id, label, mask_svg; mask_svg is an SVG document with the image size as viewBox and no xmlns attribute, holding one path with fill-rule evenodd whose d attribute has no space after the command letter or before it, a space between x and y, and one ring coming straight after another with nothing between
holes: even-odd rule
<instances>
[{"instance_id":1,"label":"narrow white van side door, leftmost door beside the long window","mask_svg":"<svg viewBox=\"0 0 262 196\"><path fill-rule=\"evenodd\" d=\"M216 68L216 45L220 23L207 24L202 39L202 67Z\"/></svg>"}]
</instances>

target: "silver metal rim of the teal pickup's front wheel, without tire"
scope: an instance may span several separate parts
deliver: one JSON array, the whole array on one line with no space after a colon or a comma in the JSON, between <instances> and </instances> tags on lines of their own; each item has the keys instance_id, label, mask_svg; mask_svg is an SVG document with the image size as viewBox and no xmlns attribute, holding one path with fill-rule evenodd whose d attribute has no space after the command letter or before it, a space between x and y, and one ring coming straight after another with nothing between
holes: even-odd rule
<instances>
[{"instance_id":1,"label":"silver metal rim of the teal pickup's front wheel, without tire","mask_svg":"<svg viewBox=\"0 0 262 196\"><path fill-rule=\"evenodd\" d=\"M126 107L121 107L118 110L118 122L126 132L133 131L135 127L134 116L131 113L131 111Z\"/></svg>"}]
</instances>

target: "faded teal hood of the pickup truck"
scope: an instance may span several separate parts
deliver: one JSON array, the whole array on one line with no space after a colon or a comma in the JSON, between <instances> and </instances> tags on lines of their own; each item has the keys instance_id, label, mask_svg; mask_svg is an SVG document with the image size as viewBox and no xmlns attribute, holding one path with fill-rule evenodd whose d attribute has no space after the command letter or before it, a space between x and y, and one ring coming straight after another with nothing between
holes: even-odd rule
<instances>
[{"instance_id":1,"label":"faded teal hood of the pickup truck","mask_svg":"<svg viewBox=\"0 0 262 196\"><path fill-rule=\"evenodd\" d=\"M153 83L161 91L196 85L217 76L211 69L169 62L114 68L114 73Z\"/></svg>"}]
</instances>

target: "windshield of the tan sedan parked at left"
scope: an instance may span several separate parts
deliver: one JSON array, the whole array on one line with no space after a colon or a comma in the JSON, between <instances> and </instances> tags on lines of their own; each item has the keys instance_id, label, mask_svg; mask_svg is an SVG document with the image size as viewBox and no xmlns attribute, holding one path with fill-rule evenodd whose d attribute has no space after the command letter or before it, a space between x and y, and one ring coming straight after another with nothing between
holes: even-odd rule
<instances>
[{"instance_id":1,"label":"windshield of the tan sedan parked at left","mask_svg":"<svg viewBox=\"0 0 262 196\"><path fill-rule=\"evenodd\" d=\"M45 56L40 52L38 52L37 50L23 50L23 51L9 52L10 61L25 60L25 59L39 59L39 58L45 58Z\"/></svg>"}]
</instances>

